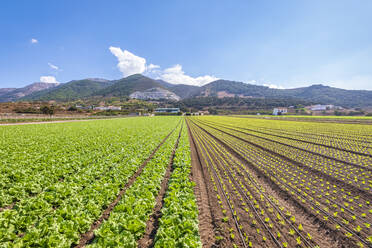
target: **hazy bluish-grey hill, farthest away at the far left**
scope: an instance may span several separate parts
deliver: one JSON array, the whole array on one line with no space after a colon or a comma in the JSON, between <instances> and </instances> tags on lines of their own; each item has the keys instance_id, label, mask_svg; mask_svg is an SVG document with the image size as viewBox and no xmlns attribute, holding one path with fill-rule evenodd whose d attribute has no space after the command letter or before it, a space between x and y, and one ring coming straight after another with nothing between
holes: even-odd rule
<instances>
[{"instance_id":1,"label":"hazy bluish-grey hill, farthest away at the far left","mask_svg":"<svg viewBox=\"0 0 372 248\"><path fill-rule=\"evenodd\" d=\"M30 85L27 85L22 88L16 89L0 89L0 102L11 102L16 101L22 97L28 96L35 92L39 92L46 89L55 88L59 85L59 83L42 83L37 82Z\"/></svg>"}]
</instances>

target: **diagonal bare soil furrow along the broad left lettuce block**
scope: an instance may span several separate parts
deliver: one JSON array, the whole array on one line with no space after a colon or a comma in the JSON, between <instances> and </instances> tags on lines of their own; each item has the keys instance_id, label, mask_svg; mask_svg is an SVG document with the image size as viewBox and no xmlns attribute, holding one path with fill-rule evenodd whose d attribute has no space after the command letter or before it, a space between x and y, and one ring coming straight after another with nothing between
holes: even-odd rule
<instances>
[{"instance_id":1,"label":"diagonal bare soil furrow along the broad left lettuce block","mask_svg":"<svg viewBox=\"0 0 372 248\"><path fill-rule=\"evenodd\" d=\"M178 124L177 124L178 126ZM176 128L177 128L176 126ZM159 150L159 148L165 143L165 141L168 139L168 137L174 132L173 129L163 140L160 142L160 144L154 149L154 151L150 154L150 156L145 160L145 162L142 163L142 165L138 168L136 173L132 175L128 182L124 185L123 189L120 190L118 196L116 199L103 211L102 215L94 222L92 223L89 231L81 235L81 238L79 240L79 244L76 245L76 248L85 247L86 244L88 244L90 241L94 239L94 230L98 229L104 220L107 220L110 217L111 211L114 209L114 207L118 204L118 202L121 200L122 196L125 194L127 189L132 186L132 184L136 181L137 177L142 173L143 169L145 168L146 164L152 159L152 157L155 155L155 153Z\"/></svg>"}]
</instances>

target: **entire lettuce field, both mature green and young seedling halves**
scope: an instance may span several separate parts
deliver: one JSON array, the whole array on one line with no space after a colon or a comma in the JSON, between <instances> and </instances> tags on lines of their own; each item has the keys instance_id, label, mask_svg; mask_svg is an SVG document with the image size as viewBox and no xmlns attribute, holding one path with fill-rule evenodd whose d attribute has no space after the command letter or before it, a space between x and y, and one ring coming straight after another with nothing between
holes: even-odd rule
<instances>
[{"instance_id":1,"label":"entire lettuce field, both mature green and young seedling halves","mask_svg":"<svg viewBox=\"0 0 372 248\"><path fill-rule=\"evenodd\" d=\"M0 247L372 247L372 126L306 119L0 126Z\"/></svg>"}]
</instances>

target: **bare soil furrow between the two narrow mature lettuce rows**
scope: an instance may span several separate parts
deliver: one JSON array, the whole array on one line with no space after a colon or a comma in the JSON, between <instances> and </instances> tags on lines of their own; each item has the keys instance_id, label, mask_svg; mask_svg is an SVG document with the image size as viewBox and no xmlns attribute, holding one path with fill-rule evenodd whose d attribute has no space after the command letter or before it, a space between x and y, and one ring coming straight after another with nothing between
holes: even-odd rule
<instances>
[{"instance_id":1,"label":"bare soil furrow between the two narrow mature lettuce rows","mask_svg":"<svg viewBox=\"0 0 372 248\"><path fill-rule=\"evenodd\" d=\"M180 141L180 137L182 134L182 128L183 128L183 124L178 134L178 138L174 145L171 157L169 159L169 164L165 172L165 176L163 178L163 181L161 182L161 188L158 193L158 196L156 197L156 205L152 211L152 215L147 220L145 234L138 241L138 247L153 247L155 244L154 243L155 235L159 229L159 220L162 216L161 209L163 208L163 205L164 205L165 193L168 190L168 181L173 172L173 159L174 159L174 155L176 154L176 151L178 148L178 143Z\"/></svg>"}]
</instances>

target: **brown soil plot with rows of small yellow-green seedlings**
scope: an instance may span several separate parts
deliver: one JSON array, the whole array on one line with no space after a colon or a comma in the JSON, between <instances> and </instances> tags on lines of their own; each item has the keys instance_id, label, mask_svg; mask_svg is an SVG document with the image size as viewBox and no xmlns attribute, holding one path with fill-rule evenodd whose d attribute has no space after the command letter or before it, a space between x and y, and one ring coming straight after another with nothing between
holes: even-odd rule
<instances>
[{"instance_id":1,"label":"brown soil plot with rows of small yellow-green seedlings","mask_svg":"<svg viewBox=\"0 0 372 248\"><path fill-rule=\"evenodd\" d=\"M201 233L203 240L223 247L372 245L371 126L239 117L188 124L211 208L200 213L220 227L214 238Z\"/></svg>"}]
</instances>

